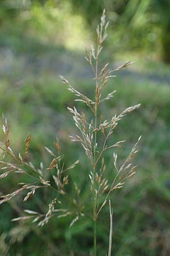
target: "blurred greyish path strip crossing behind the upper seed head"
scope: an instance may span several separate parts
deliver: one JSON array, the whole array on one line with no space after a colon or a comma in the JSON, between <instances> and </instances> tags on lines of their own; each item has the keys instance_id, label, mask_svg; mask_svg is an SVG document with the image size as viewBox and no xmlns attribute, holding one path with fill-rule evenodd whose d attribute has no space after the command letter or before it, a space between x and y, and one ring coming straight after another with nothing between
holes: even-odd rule
<instances>
[{"instance_id":1,"label":"blurred greyish path strip crossing behind the upper seed head","mask_svg":"<svg viewBox=\"0 0 170 256\"><path fill-rule=\"evenodd\" d=\"M113 63L116 67L118 63ZM45 52L39 55L20 54L12 52L10 48L0 48L0 75L1 77L15 77L15 80L27 76L41 76L41 74L78 77L87 79L92 77L91 69L84 58L75 53L66 51ZM118 73L120 77L128 77L134 81L151 81L155 84L170 84L170 72L168 75L151 72L144 73L135 70L124 69Z\"/></svg>"}]
</instances>

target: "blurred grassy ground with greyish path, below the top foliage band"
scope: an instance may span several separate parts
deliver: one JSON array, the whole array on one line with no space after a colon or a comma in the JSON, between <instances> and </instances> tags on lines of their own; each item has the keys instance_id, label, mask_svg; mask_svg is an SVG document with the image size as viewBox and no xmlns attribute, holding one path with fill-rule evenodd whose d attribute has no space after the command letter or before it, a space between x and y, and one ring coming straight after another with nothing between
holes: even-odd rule
<instances>
[{"instance_id":1,"label":"blurred grassy ground with greyish path, below the top foliage band","mask_svg":"<svg viewBox=\"0 0 170 256\"><path fill-rule=\"evenodd\" d=\"M80 159L80 164L70 172L70 181L76 180L82 188L80 203L87 202L87 205L90 205L87 201L90 198L88 184L90 167L87 166L83 150L68 137L69 134L76 133L72 117L67 112L67 106L75 105L74 96L67 91L65 85L61 84L58 74L62 72L75 88L91 97L95 84L83 59L83 47L82 51L76 51L74 42L71 48L70 44L63 45L61 40L59 43L53 42L54 25L51 32L48 31L48 24L46 30L43 28L41 31L41 23L38 22L37 26L35 22L33 23L36 14L35 9L29 22L23 22L20 27L18 23L15 26L5 23L0 32L0 110L8 119L10 141L16 153L23 150L24 138L28 132L31 133L32 142L28 158L35 166L39 166L41 160L48 165L50 157L46 154L44 146L53 149L56 135L61 141L66 164L71 164L73 159ZM43 13L40 14L40 20L43 21ZM61 16L60 19L62 20L63 17ZM79 26L82 26L81 24L80 22ZM36 30L40 35L36 36ZM45 40L45 36L48 36L46 31L51 38ZM61 26L59 35L64 32ZM112 138L115 142L122 139L127 141L124 147L117 151L118 160L121 162L142 134L140 152L136 160L137 175L122 191L112 195L113 255L168 256L170 251L169 66L137 53L110 53L109 49L112 47L109 43L105 54L101 56L101 62L105 63L109 58L111 65L117 65L130 59L135 61L135 65L126 72L117 73L117 77L109 82L105 93L113 89L116 89L117 93L112 100L101 105L100 111L103 112L103 117L111 118L128 106L142 104L140 109L120 121ZM80 106L80 109L82 108L83 106ZM111 172L114 170L112 150L105 155L105 163L109 175L112 176ZM1 180L1 193L14 191L19 181L18 176L9 176ZM69 191L75 196L73 188L69 187ZM92 223L86 218L80 219L70 229L68 228L70 217L52 218L43 228L37 228L30 222L10 221L25 208L45 211L53 197L54 193L41 191L28 201L27 206L22 202L22 196L16 201L12 200L1 205L1 255L92 255ZM64 205L69 207L66 203ZM108 207L103 209L98 222L97 256L101 256L105 255L108 248Z\"/></svg>"}]
</instances>

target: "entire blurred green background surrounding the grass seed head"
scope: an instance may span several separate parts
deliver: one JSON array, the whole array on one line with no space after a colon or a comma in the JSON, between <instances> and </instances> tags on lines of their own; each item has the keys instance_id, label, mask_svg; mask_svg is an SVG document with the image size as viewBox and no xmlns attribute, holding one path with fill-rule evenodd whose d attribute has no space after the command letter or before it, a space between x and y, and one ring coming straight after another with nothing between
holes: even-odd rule
<instances>
[{"instance_id":1,"label":"entire blurred green background surrounding the grass seed head","mask_svg":"<svg viewBox=\"0 0 170 256\"><path fill-rule=\"evenodd\" d=\"M0 111L10 124L15 152L22 151L24 138L32 135L29 159L39 166L50 159L44 146L61 141L67 164L80 159L70 174L82 187L80 200L90 197L87 159L70 141L75 134L67 106L73 95L58 80L66 76L75 88L94 93L92 73L84 50L95 39L95 27L103 9L109 19L108 39L101 63L112 67L135 61L109 82L117 89L113 100L102 106L103 116L112 117L128 106L142 103L139 110L120 122L115 140L126 139L117 151L123 159L143 135L138 155L138 173L113 199L113 255L170 255L170 2L169 0L1 0L0 1ZM80 108L82 108L80 106ZM2 138L2 131L1 131ZM105 156L113 169L113 151ZM2 158L2 157L1 157ZM1 193L14 191L19 177L1 181ZM74 189L69 188L74 195ZM85 256L92 253L92 224L82 219L68 228L70 218L52 218L37 228L30 222L11 222L24 208L48 208L53 194L36 193L25 205L23 197L1 205L0 254L17 256ZM49 201L48 201L49 200ZM98 256L107 252L108 209L101 212Z\"/></svg>"}]
</instances>

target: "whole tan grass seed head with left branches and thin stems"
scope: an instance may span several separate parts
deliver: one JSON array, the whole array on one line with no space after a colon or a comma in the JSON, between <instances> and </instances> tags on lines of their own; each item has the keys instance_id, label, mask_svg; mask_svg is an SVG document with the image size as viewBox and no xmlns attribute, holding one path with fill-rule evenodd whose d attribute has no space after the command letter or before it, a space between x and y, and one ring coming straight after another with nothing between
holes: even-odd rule
<instances>
[{"instance_id":1,"label":"whole tan grass seed head with left branches and thin stems","mask_svg":"<svg viewBox=\"0 0 170 256\"><path fill-rule=\"evenodd\" d=\"M37 226L44 226L47 224L52 217L62 218L71 216L70 227L83 218L88 218L89 221L93 222L94 229L94 250L93 255L97 255L97 220L105 205L109 203L109 214L110 216L110 232L109 232L109 248L108 256L112 253L112 217L113 210L111 207L112 193L121 189L125 186L126 181L131 178L135 172L137 166L133 164L133 158L137 154L137 146L141 139L139 137L137 143L131 148L128 156L123 163L118 163L117 153L114 152L115 148L121 147L125 143L125 140L114 141L114 130L118 129L118 123L129 113L140 107L140 104L125 108L120 113L111 117L111 119L105 119L101 113L100 105L104 104L105 101L113 100L116 90L112 90L106 96L103 96L105 86L108 81L114 79L114 72L121 71L122 69L133 64L131 61L126 61L124 64L117 68L109 68L109 63L99 68L99 57L103 50L103 43L107 39L107 28L109 23L105 20L105 10L101 16L100 24L96 28L97 40L96 46L91 46L90 51L86 50L86 60L92 69L94 77L94 97L90 98L79 92L71 85L71 83L63 76L59 76L61 81L66 84L67 89L76 96L75 101L80 104L86 104L84 111L79 112L76 107L68 107L67 109L73 115L75 126L78 129L78 134L70 135L72 141L80 143L83 148L84 154L88 158L89 168L87 180L89 183L89 189L91 191L91 212L86 211L86 204L83 204L80 200L81 188L74 181L69 179L69 172L75 168L81 159L73 162L70 166L65 164L65 156L62 154L61 145L59 144L58 138L54 142L55 150L50 150L45 147L46 152L50 156L49 165L44 166L43 160L40 161L39 168L36 168L32 162L27 160L27 154L31 143L31 135L28 133L24 140L24 152L16 155L11 148L9 139L9 127L7 119L2 118L3 121L3 133L5 138L0 144L1 151L3 152L3 160L1 160L1 175L3 179L11 173L18 175L27 176L30 178L29 183L19 182L18 189L2 195L0 197L0 204L10 201L15 196L22 194L24 195L23 201L31 200L36 195L39 189L49 189L55 193L55 197L48 203L48 209L45 213L39 212L38 210L25 209L24 215L13 218L12 221L31 220L33 223L36 222ZM90 113L86 115L87 109ZM108 150L113 151L113 162L114 177L109 177L107 164L105 162L105 152ZM11 160L8 160L10 157ZM7 160L5 160L7 158ZM112 176L111 176L112 177ZM20 178L21 179L21 178ZM76 191L76 198L72 197L68 192L67 186L71 185ZM62 208L62 200L67 201L69 208Z\"/></svg>"}]
</instances>

